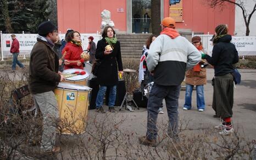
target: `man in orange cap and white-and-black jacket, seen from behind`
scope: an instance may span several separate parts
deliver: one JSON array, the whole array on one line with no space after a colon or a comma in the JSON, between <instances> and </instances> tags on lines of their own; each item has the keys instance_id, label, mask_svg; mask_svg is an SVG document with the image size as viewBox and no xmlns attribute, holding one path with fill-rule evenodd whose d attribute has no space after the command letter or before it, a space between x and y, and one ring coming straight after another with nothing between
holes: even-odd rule
<instances>
[{"instance_id":1,"label":"man in orange cap and white-and-black jacket, seen from behind","mask_svg":"<svg viewBox=\"0 0 256 160\"><path fill-rule=\"evenodd\" d=\"M169 117L169 137L179 139L177 109L181 82L186 70L201 61L198 49L175 30L175 25L174 19L165 17L161 23L162 32L149 48L147 67L154 76L154 85L148 99L147 133L139 138L144 145L156 144L158 109L163 99Z\"/></svg>"}]
</instances>

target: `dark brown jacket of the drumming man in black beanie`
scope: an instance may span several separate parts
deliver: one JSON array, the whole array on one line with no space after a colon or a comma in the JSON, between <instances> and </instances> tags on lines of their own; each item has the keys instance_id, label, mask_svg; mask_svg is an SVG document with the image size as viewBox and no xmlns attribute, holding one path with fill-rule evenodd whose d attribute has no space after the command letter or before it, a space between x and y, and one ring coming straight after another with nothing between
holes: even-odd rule
<instances>
[{"instance_id":1,"label":"dark brown jacket of the drumming man in black beanie","mask_svg":"<svg viewBox=\"0 0 256 160\"><path fill-rule=\"evenodd\" d=\"M53 91L60 81L59 57L52 47L37 38L30 54L29 89L32 94Z\"/></svg>"}]
</instances>

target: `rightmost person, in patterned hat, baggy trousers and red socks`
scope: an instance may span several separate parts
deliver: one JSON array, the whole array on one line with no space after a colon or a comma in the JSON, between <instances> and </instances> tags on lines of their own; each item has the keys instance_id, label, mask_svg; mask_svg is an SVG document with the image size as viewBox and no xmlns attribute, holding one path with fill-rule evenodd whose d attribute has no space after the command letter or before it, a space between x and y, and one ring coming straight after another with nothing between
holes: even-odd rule
<instances>
[{"instance_id":1,"label":"rightmost person, in patterned hat, baggy trousers and red socks","mask_svg":"<svg viewBox=\"0 0 256 160\"><path fill-rule=\"evenodd\" d=\"M231 117L233 115L233 64L239 61L235 45L231 43L231 35L227 34L229 29L226 25L219 25L215 28L213 39L212 57L206 56L208 63L214 66L213 85L213 108L216 108L216 115L220 116L221 123L215 126L221 129L219 134L229 135L234 132Z\"/></svg>"}]
</instances>

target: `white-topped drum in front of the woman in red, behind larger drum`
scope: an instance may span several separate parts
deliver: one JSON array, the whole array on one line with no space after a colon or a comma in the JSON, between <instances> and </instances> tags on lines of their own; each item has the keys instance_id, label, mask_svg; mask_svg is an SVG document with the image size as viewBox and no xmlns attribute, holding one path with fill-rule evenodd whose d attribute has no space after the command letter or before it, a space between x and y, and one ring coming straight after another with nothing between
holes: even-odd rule
<instances>
[{"instance_id":1,"label":"white-topped drum in front of the woman in red, behind larger drum","mask_svg":"<svg viewBox=\"0 0 256 160\"><path fill-rule=\"evenodd\" d=\"M72 74L76 71L79 71L79 72L82 72L82 71L85 71L83 69L76 69L76 68L73 68L73 69L65 69L63 70L63 74ZM64 82L67 82L67 83L70 83L70 84L77 84L77 85L84 85L86 86L86 80L88 79L89 77L89 74L86 72L86 74L84 75L76 75L76 76L72 76L70 78L66 78L64 80Z\"/></svg>"}]
</instances>

